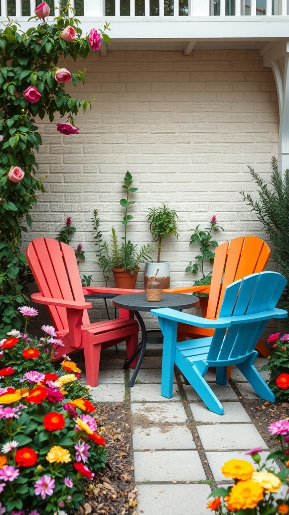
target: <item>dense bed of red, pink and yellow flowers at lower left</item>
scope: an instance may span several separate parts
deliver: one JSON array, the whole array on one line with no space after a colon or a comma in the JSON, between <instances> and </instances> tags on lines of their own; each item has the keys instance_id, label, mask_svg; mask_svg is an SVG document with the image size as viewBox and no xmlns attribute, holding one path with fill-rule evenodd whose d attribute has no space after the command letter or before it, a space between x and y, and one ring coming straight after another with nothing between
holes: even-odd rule
<instances>
[{"instance_id":1,"label":"dense bed of red, pink and yellow flowers at lower left","mask_svg":"<svg viewBox=\"0 0 289 515\"><path fill-rule=\"evenodd\" d=\"M33 308L21 309L24 317L34 314ZM40 345L46 347L48 339L50 345L59 345L54 328L42 329L46 336ZM18 359L22 355L30 370L18 387L7 382L19 363L0 370L0 514L70 513L84 502L84 482L105 464L105 440L91 416L95 407L79 383L80 369L73 361L64 357L57 373L49 367L35 370L41 352L29 347L29 341L22 350L29 338L12 333L0 343L0 360L20 347Z\"/></svg>"}]
</instances>

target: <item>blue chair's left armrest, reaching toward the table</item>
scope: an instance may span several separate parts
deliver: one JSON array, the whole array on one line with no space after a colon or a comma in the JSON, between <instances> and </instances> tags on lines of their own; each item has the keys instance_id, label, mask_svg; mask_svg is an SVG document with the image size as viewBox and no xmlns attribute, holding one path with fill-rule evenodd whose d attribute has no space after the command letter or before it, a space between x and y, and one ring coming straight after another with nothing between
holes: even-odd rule
<instances>
[{"instance_id":1,"label":"blue chair's left armrest, reaching toward the table","mask_svg":"<svg viewBox=\"0 0 289 515\"><path fill-rule=\"evenodd\" d=\"M223 328L230 327L233 317L223 317L216 320L210 318L197 317L189 313L183 313L177 310L172 310L170 307L162 307L159 310L151 310L151 314L159 318L167 318L175 322L186 323L188 325L195 325L196 327L203 328Z\"/></svg>"}]
</instances>

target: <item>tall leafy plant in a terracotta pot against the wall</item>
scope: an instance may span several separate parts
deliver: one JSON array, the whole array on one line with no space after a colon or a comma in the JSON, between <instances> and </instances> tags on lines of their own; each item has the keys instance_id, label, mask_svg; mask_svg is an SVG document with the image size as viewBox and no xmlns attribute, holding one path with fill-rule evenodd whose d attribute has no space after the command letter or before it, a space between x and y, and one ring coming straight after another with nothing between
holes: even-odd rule
<instances>
[{"instance_id":1,"label":"tall leafy plant in a terracotta pot against the wall","mask_svg":"<svg viewBox=\"0 0 289 515\"><path fill-rule=\"evenodd\" d=\"M127 226L133 216L128 214L128 208L134 204L134 200L129 200L131 193L135 193L138 188L130 187L133 179L129 171L125 174L123 189L127 193L127 198L120 200L120 205L124 208L122 225L124 225L124 235L121 236L122 242L119 242L116 229L112 227L110 242L102 240L102 233L99 229L98 211L94 211L93 227L96 231L97 261L103 272L105 283L107 285L107 274L113 272L114 282L117 288L135 288L139 264L151 260L150 251L152 245L142 245L140 249L133 244L127 235Z\"/></svg>"}]
</instances>

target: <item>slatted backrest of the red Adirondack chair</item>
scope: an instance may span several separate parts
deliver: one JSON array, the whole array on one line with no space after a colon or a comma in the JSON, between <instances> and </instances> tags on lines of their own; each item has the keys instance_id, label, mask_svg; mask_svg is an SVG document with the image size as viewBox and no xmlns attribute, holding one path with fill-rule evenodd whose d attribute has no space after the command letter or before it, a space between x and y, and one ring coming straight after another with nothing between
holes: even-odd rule
<instances>
[{"instance_id":1,"label":"slatted backrest of the red Adirondack chair","mask_svg":"<svg viewBox=\"0 0 289 515\"><path fill-rule=\"evenodd\" d=\"M44 297L84 302L75 251L72 247L59 244L56 239L37 238L28 245L26 258ZM65 307L50 305L47 309L57 331L68 328ZM83 312L83 323L89 323L86 310Z\"/></svg>"}]
</instances>

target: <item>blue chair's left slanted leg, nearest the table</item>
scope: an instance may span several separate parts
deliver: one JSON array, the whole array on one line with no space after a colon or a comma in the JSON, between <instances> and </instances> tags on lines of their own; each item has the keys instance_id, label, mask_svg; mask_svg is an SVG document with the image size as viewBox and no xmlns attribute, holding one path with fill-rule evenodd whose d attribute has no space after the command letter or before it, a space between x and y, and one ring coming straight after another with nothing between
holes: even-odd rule
<instances>
[{"instance_id":1,"label":"blue chair's left slanted leg, nearest the table","mask_svg":"<svg viewBox=\"0 0 289 515\"><path fill-rule=\"evenodd\" d=\"M213 411L213 413L218 415L224 415L224 408L221 402L215 396L213 390L202 376L200 370L198 370L196 364L189 365L186 359L182 355L179 356L179 354L180 353L177 353L176 356L176 366L183 374L186 375L198 396L201 397L202 401L210 411Z\"/></svg>"}]
</instances>

